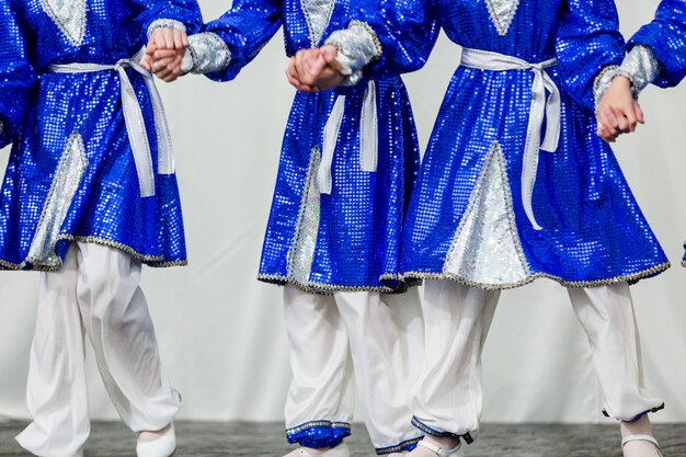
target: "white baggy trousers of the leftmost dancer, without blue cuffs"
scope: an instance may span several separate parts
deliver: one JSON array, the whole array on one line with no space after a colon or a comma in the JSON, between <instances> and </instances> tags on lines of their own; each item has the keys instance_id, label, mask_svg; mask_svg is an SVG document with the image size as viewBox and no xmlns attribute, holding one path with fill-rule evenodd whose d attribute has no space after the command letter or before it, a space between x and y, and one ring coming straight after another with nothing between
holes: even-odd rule
<instances>
[{"instance_id":1,"label":"white baggy trousers of the leftmost dancer, without blue cuffs","mask_svg":"<svg viewBox=\"0 0 686 457\"><path fill-rule=\"evenodd\" d=\"M135 432L171 423L179 395L161 374L140 262L106 245L72 243L42 273L26 400L33 422L16 441L42 457L75 457L90 433L84 335L107 393Z\"/></svg>"}]
</instances>

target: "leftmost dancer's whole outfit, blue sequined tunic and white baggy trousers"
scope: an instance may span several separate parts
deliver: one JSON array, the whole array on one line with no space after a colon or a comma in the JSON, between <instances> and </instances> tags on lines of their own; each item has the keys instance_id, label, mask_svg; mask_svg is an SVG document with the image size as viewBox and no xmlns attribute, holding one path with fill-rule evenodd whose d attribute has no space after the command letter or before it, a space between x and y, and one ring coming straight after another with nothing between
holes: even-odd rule
<instances>
[{"instance_id":1,"label":"leftmost dancer's whole outfit, blue sequined tunic and white baggy trousers","mask_svg":"<svg viewBox=\"0 0 686 457\"><path fill-rule=\"evenodd\" d=\"M173 421L139 287L141 264L184 264L163 110L139 65L147 33L202 23L194 1L0 0L0 266L42 271L27 386L38 456L89 435L84 335L133 431ZM193 30L193 28L191 28Z\"/></svg>"}]
</instances>

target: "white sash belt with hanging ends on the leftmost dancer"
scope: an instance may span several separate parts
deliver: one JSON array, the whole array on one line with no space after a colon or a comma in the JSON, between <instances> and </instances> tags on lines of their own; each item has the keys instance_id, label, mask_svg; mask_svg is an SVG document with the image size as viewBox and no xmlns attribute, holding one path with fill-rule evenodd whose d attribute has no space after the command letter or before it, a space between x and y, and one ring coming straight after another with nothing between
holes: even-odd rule
<instances>
[{"instance_id":1,"label":"white sash belt with hanging ends on the leftmost dancer","mask_svg":"<svg viewBox=\"0 0 686 457\"><path fill-rule=\"evenodd\" d=\"M171 145L171 137L169 135L169 126L167 124L167 116L164 115L164 107L162 106L162 99L160 98L157 88L155 87L155 80L152 75L138 64L141 54L134 56L130 59L122 59L115 65L99 65L99 64L67 64L67 65L50 65L49 70L56 73L89 73L95 71L111 71L114 70L119 76L119 82L122 88L122 106L124 108L124 121L126 123L126 132L128 134L128 140L132 145L132 151L134 153L134 162L136 163L136 172L138 173L138 183L140 185L140 196L149 197L155 195L155 173L152 169L152 156L150 152L150 144L148 142L148 134L146 130L146 123L142 117L142 111L138 103L138 98L132 85L132 81L126 73L127 68L132 68L138 73L142 75L148 92L150 93L150 100L152 102L152 112L155 115L155 127L157 132L158 142L158 173L159 174L173 174L174 173L174 159Z\"/></svg>"}]
</instances>

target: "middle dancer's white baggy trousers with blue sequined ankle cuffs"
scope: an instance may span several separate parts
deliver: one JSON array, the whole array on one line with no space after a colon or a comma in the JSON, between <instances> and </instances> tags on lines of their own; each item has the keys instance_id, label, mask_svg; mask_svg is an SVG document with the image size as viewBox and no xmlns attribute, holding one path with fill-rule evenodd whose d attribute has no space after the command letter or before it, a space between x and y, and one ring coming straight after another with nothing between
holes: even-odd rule
<instances>
[{"instance_id":1,"label":"middle dancer's white baggy trousers with blue sequined ankle cuffs","mask_svg":"<svg viewBox=\"0 0 686 457\"><path fill-rule=\"evenodd\" d=\"M410 423L409 405L423 355L416 288L400 295L316 295L286 285L284 302L293 369L285 409L289 441L327 447L347 435L354 380L377 454L413 446L422 435ZM321 427L332 427L334 436L309 439Z\"/></svg>"}]
</instances>

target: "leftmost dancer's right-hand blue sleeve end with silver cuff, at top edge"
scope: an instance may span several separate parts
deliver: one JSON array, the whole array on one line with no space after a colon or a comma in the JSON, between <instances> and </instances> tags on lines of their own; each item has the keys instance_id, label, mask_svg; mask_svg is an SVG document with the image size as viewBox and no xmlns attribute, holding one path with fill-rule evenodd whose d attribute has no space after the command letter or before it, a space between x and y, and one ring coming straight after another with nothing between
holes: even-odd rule
<instances>
[{"instance_id":1,"label":"leftmost dancer's right-hand blue sleeve end with silver cuff, at top edge","mask_svg":"<svg viewBox=\"0 0 686 457\"><path fill-rule=\"evenodd\" d=\"M197 33L203 25L203 14L196 0L134 0L141 7L138 18L147 38L155 30L169 27Z\"/></svg>"}]
</instances>

